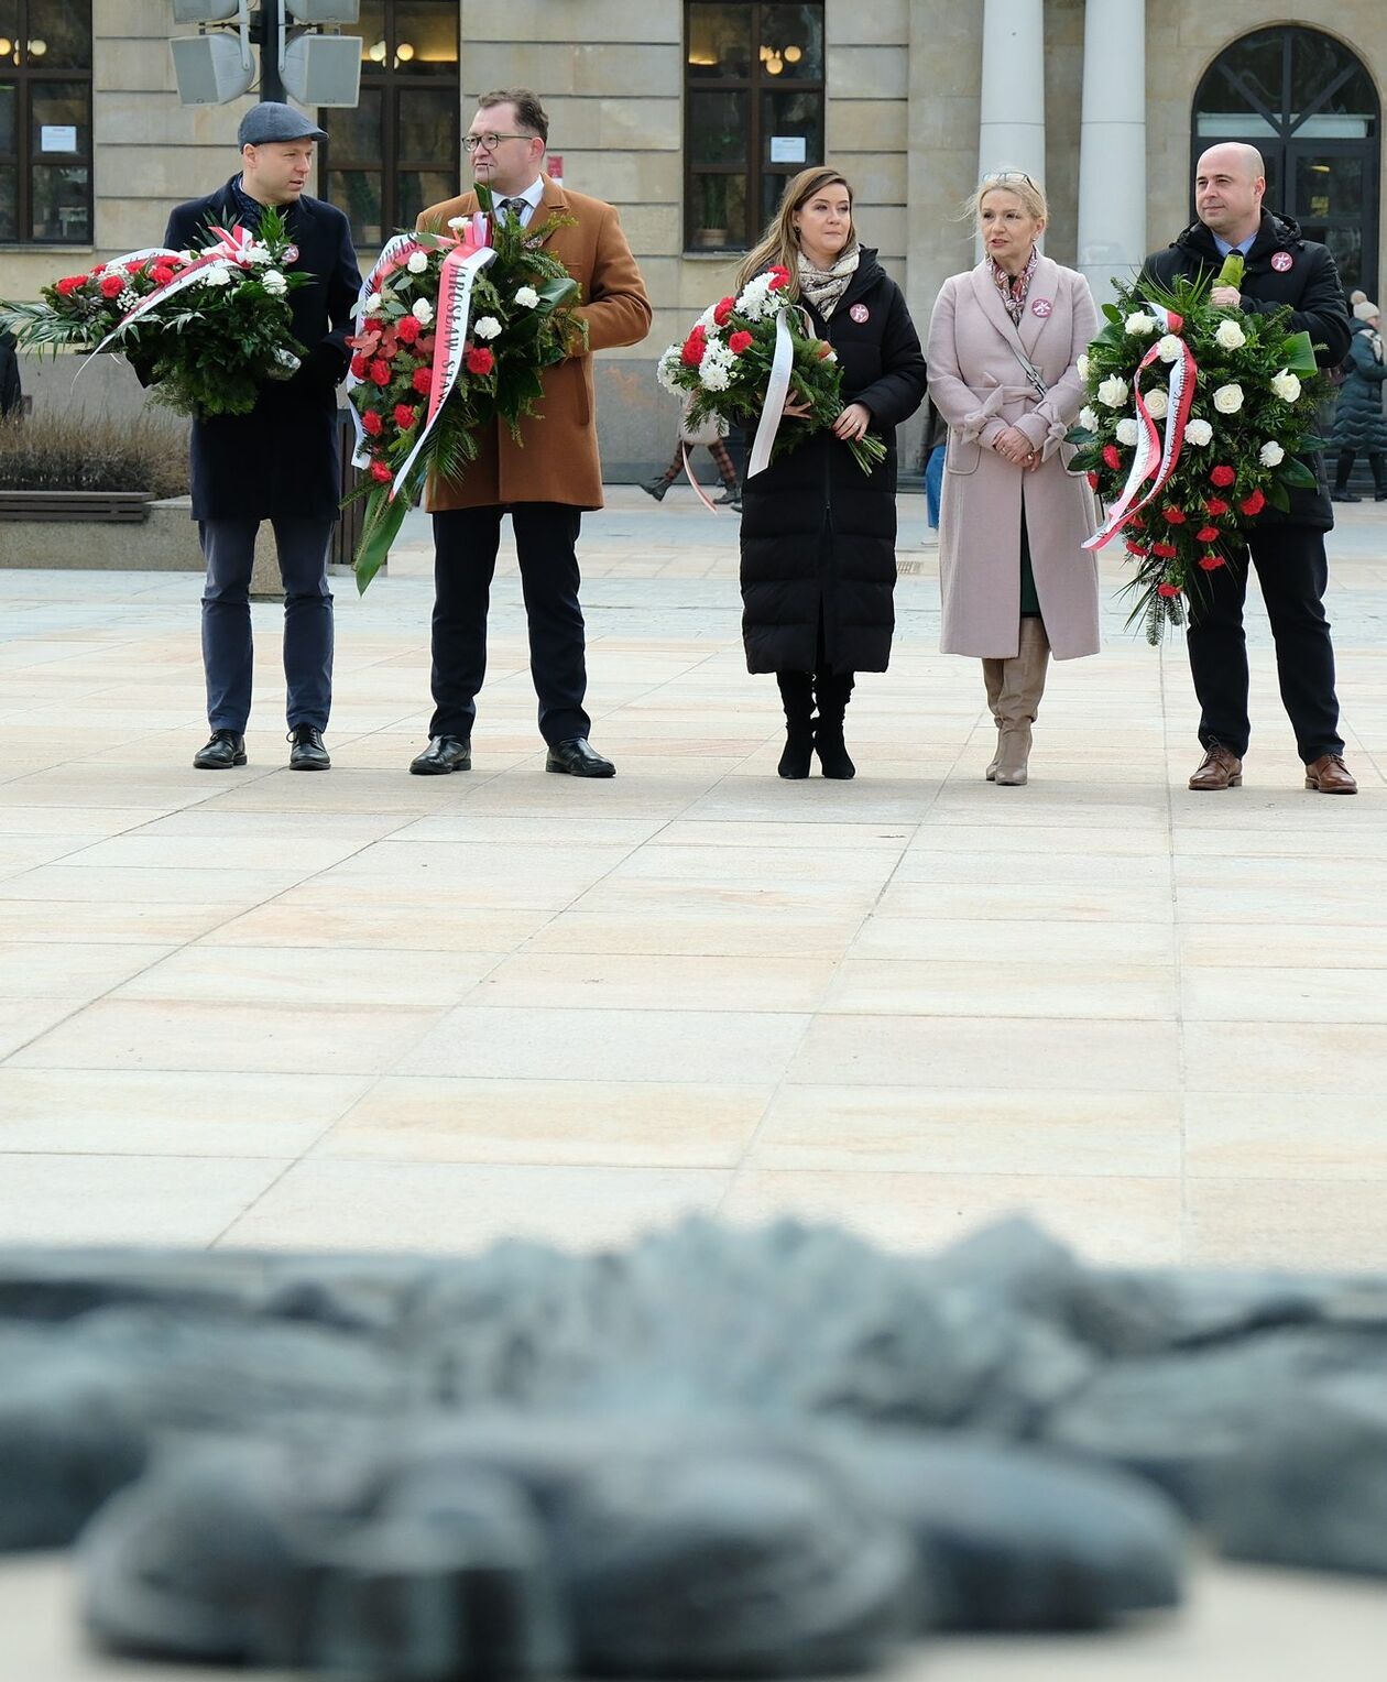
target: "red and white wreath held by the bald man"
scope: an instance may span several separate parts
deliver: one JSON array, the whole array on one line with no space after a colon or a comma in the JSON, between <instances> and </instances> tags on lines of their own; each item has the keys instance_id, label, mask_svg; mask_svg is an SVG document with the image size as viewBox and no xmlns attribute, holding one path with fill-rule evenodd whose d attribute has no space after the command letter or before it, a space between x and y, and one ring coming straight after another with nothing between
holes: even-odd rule
<instances>
[{"instance_id":1,"label":"red and white wreath held by the bald man","mask_svg":"<svg viewBox=\"0 0 1387 1682\"><path fill-rule=\"evenodd\" d=\"M1217 281L1120 288L1079 357L1088 400L1069 432L1071 466L1106 505L1088 547L1126 540L1128 624L1142 621L1150 643L1184 624L1200 575L1229 563L1263 510L1316 483L1301 459L1321 447L1315 346L1288 330L1289 309L1209 303L1210 286L1236 286L1241 267L1231 257Z\"/></svg>"}]
</instances>

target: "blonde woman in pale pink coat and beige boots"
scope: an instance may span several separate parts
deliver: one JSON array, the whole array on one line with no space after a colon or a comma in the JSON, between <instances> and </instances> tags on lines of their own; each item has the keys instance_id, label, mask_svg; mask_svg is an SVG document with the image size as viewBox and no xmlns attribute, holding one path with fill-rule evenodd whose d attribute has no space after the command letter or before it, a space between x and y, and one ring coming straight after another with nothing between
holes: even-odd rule
<instances>
[{"instance_id":1,"label":"blonde woman in pale pink coat and beige boots","mask_svg":"<svg viewBox=\"0 0 1387 1682\"><path fill-rule=\"evenodd\" d=\"M945 281L930 321L930 395L948 420L940 646L982 659L987 777L1019 785L1051 651L1098 653L1098 567L1081 547L1094 505L1063 444L1098 311L1083 274L1041 256L1046 195L1029 175L985 175L972 209L987 256Z\"/></svg>"}]
</instances>

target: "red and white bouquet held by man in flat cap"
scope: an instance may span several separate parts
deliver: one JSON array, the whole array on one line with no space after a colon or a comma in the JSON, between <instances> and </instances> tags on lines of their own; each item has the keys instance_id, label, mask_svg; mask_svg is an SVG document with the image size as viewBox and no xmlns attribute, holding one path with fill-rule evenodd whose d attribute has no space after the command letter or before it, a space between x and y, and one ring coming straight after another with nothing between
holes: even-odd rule
<instances>
[{"instance_id":1,"label":"red and white bouquet held by man in flat cap","mask_svg":"<svg viewBox=\"0 0 1387 1682\"><path fill-rule=\"evenodd\" d=\"M266 380L299 367L289 293L309 276L291 269L298 251L277 210L256 232L210 227L207 239L202 251L151 246L66 274L37 304L0 304L0 325L22 350L124 355L153 400L180 414L249 414Z\"/></svg>"}]
</instances>

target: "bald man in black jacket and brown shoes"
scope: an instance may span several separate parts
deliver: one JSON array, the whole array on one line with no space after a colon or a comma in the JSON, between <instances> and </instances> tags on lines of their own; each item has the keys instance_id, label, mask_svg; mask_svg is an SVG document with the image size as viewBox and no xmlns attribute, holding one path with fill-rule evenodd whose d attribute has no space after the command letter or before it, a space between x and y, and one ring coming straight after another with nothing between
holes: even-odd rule
<instances>
[{"instance_id":1,"label":"bald man in black jacket and brown shoes","mask_svg":"<svg viewBox=\"0 0 1387 1682\"><path fill-rule=\"evenodd\" d=\"M1244 254L1241 288L1216 286L1212 301L1246 315L1291 309L1291 331L1310 333L1321 368L1348 353L1350 321L1335 261L1305 239L1289 219L1263 209L1266 173L1254 146L1210 146L1195 172L1199 220L1165 251L1147 257L1143 276L1170 284L1217 274L1229 251ZM1330 489L1320 458L1306 459L1315 489L1289 491L1291 506L1268 508L1247 532L1247 552L1229 567L1202 574L1207 589L1190 595L1189 653L1199 695L1204 760L1190 777L1195 791L1237 787L1247 752L1247 641L1242 602L1247 565L1258 569L1276 643L1281 700L1305 760L1305 785L1320 794L1357 794L1343 764L1335 695L1333 644L1325 617L1328 562L1325 532L1333 526Z\"/></svg>"}]
</instances>

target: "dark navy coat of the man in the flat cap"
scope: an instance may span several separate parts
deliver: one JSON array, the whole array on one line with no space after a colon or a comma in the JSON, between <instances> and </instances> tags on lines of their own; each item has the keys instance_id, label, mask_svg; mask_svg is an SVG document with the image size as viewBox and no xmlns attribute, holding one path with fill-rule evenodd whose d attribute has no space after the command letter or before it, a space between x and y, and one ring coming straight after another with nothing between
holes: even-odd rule
<instances>
[{"instance_id":1,"label":"dark navy coat of the man in the flat cap","mask_svg":"<svg viewBox=\"0 0 1387 1682\"><path fill-rule=\"evenodd\" d=\"M178 205L165 246L207 244L207 225L237 220L232 183ZM301 198L287 207L299 249L294 269L313 276L289 293L293 335L306 346L291 380L267 382L247 415L193 420L193 520L335 520L338 515L336 387L350 362L351 306L361 286L351 229L335 205Z\"/></svg>"}]
</instances>

